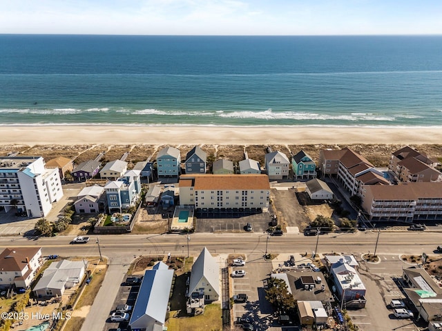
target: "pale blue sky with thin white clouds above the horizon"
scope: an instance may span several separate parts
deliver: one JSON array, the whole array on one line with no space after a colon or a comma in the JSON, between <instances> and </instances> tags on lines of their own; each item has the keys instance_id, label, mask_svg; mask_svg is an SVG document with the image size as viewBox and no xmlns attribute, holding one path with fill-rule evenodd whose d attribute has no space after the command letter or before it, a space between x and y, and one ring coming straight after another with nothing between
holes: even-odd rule
<instances>
[{"instance_id":1,"label":"pale blue sky with thin white clouds above the horizon","mask_svg":"<svg viewBox=\"0 0 442 331\"><path fill-rule=\"evenodd\" d=\"M0 0L0 33L442 34L442 0Z\"/></svg>"}]
</instances>

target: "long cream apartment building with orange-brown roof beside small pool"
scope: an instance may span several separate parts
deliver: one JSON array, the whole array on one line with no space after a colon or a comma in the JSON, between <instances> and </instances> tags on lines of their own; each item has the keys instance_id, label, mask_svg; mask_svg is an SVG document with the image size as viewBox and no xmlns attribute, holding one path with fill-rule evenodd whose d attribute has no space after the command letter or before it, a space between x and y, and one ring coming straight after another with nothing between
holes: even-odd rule
<instances>
[{"instance_id":1,"label":"long cream apartment building with orange-brown roof beside small pool","mask_svg":"<svg viewBox=\"0 0 442 331\"><path fill-rule=\"evenodd\" d=\"M180 204L214 212L267 211L270 184L265 174L185 174L180 177Z\"/></svg>"}]
</instances>

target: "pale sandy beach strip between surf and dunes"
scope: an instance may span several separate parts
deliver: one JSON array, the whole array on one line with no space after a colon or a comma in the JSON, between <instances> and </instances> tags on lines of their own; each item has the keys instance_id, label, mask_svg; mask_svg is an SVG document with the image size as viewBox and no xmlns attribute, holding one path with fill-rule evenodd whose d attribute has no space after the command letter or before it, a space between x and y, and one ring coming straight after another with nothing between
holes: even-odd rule
<instances>
[{"instance_id":1,"label":"pale sandy beach strip between surf and dunes","mask_svg":"<svg viewBox=\"0 0 442 331\"><path fill-rule=\"evenodd\" d=\"M0 126L1 145L439 144L441 128L312 126Z\"/></svg>"}]
</instances>

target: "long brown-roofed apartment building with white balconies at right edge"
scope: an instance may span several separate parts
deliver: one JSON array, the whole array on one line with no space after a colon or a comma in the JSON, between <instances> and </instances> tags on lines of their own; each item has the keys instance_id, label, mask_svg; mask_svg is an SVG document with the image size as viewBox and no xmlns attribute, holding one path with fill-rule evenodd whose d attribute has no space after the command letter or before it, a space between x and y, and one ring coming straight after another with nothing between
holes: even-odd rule
<instances>
[{"instance_id":1,"label":"long brown-roofed apartment building with white balconies at right edge","mask_svg":"<svg viewBox=\"0 0 442 331\"><path fill-rule=\"evenodd\" d=\"M372 220L442 219L442 183L364 185L361 198Z\"/></svg>"}]
</instances>

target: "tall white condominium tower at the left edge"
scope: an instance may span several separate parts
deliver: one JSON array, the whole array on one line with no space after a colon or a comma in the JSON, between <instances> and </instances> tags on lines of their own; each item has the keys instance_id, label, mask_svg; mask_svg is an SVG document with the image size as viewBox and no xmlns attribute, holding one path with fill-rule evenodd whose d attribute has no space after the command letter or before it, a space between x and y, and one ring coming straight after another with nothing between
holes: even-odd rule
<instances>
[{"instance_id":1,"label":"tall white condominium tower at the left edge","mask_svg":"<svg viewBox=\"0 0 442 331\"><path fill-rule=\"evenodd\" d=\"M0 207L45 217L63 197L59 170L46 168L43 157L0 157Z\"/></svg>"}]
</instances>

